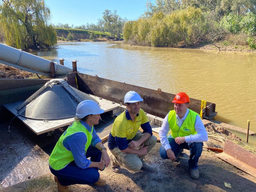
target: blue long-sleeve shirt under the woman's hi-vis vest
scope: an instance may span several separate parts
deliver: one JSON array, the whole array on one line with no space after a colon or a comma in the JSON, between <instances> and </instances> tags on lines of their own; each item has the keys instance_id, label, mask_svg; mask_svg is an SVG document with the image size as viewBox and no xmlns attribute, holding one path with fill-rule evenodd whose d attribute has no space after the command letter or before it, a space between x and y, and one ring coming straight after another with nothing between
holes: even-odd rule
<instances>
[{"instance_id":1,"label":"blue long-sleeve shirt under the woman's hi-vis vest","mask_svg":"<svg viewBox=\"0 0 256 192\"><path fill-rule=\"evenodd\" d=\"M92 127L90 127L86 122L80 121L80 123L89 132L92 131ZM84 150L86 141L87 141L86 135L81 132L70 135L63 140L64 147L66 147L67 150L72 152L76 165L82 169L86 169L91 165L91 161L86 158L86 154ZM99 142L101 142L101 139L97 135L95 129L93 129L91 144L95 146Z\"/></svg>"}]
</instances>

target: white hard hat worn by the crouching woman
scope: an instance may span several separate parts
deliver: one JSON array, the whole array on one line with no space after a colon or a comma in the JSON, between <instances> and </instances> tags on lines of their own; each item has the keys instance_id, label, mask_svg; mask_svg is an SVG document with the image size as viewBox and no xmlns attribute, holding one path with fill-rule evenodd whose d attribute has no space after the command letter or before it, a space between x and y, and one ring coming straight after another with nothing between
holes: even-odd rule
<instances>
[{"instance_id":1,"label":"white hard hat worn by the crouching woman","mask_svg":"<svg viewBox=\"0 0 256 192\"><path fill-rule=\"evenodd\" d=\"M104 110L92 100L84 100L77 105L76 117L79 119L84 118L87 115L97 115L104 113Z\"/></svg>"}]
</instances>

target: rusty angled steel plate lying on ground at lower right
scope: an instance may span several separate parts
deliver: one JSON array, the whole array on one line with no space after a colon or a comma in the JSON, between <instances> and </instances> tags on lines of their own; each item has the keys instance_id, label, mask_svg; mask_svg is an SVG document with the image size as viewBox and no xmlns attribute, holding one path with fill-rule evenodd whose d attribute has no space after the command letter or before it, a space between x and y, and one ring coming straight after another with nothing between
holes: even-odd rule
<instances>
[{"instance_id":1,"label":"rusty angled steel plate lying on ground at lower right","mask_svg":"<svg viewBox=\"0 0 256 192\"><path fill-rule=\"evenodd\" d=\"M223 153L215 154L238 169L256 177L256 155L226 139Z\"/></svg>"}]
</instances>

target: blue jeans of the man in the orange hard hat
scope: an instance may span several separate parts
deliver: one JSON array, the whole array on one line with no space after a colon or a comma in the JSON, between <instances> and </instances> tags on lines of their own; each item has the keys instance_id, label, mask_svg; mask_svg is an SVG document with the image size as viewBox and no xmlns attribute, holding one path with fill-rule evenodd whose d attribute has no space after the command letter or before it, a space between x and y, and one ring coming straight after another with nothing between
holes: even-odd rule
<instances>
[{"instance_id":1,"label":"blue jeans of the man in the orange hard hat","mask_svg":"<svg viewBox=\"0 0 256 192\"><path fill-rule=\"evenodd\" d=\"M174 152L175 156L179 156L179 154L183 151L183 149L190 150L190 156L188 160L188 165L190 169L197 169L199 157L203 151L203 143L182 143L177 144L173 138L168 137L169 143L171 145L172 151ZM163 146L161 146L160 150L160 157L163 159L169 159L167 156L167 152Z\"/></svg>"}]
</instances>

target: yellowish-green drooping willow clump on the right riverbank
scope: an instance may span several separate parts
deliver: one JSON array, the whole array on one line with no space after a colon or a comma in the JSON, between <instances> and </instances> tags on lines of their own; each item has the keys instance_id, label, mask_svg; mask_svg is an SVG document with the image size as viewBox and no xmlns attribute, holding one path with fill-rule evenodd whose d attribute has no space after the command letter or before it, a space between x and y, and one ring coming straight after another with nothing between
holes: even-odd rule
<instances>
[{"instance_id":1,"label":"yellowish-green drooping willow clump on the right riverbank","mask_svg":"<svg viewBox=\"0 0 256 192\"><path fill-rule=\"evenodd\" d=\"M190 46L199 43L206 31L202 11L190 7L169 15L158 12L152 18L128 21L124 38L151 46Z\"/></svg>"}]
</instances>

